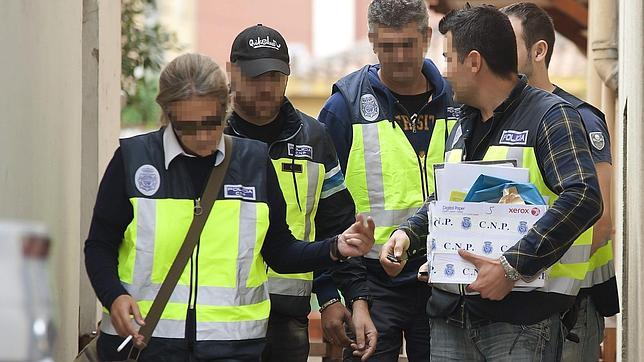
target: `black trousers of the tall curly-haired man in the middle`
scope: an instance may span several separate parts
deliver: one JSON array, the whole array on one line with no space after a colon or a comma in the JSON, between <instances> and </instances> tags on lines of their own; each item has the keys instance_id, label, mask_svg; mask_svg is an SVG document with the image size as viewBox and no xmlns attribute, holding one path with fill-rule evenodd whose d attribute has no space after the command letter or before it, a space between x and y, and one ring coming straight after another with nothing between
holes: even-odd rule
<instances>
[{"instance_id":1,"label":"black trousers of the tall curly-haired man in the middle","mask_svg":"<svg viewBox=\"0 0 644 362\"><path fill-rule=\"evenodd\" d=\"M397 362L405 338L410 362L429 361L429 318L427 300L431 292L426 283L416 282L401 287L385 287L368 281L372 297L371 319L378 330L376 352L369 361ZM353 337L352 337L353 338ZM359 361L344 350L345 361Z\"/></svg>"}]
</instances>

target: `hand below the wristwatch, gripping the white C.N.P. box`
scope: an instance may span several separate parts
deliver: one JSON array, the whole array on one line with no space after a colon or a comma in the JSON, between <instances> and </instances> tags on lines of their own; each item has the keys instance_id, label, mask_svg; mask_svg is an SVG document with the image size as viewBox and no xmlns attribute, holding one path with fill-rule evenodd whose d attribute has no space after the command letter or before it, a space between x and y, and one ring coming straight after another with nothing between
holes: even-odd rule
<instances>
[{"instance_id":1,"label":"hand below the wristwatch, gripping the white C.N.P. box","mask_svg":"<svg viewBox=\"0 0 644 362\"><path fill-rule=\"evenodd\" d=\"M479 271L474 283L467 286L469 292L478 292L481 298L501 300L512 291L514 282L505 277L505 269L500 261L472 254L463 249L460 249L458 254L474 264Z\"/></svg>"}]
</instances>

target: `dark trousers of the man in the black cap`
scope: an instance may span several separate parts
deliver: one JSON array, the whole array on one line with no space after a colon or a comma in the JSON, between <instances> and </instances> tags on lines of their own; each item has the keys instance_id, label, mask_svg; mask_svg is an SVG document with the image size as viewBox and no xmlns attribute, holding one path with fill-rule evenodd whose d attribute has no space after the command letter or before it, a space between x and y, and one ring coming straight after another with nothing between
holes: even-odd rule
<instances>
[{"instance_id":1,"label":"dark trousers of the man in the black cap","mask_svg":"<svg viewBox=\"0 0 644 362\"><path fill-rule=\"evenodd\" d=\"M306 362L308 356L308 316L292 317L271 310L262 361Z\"/></svg>"}]
</instances>

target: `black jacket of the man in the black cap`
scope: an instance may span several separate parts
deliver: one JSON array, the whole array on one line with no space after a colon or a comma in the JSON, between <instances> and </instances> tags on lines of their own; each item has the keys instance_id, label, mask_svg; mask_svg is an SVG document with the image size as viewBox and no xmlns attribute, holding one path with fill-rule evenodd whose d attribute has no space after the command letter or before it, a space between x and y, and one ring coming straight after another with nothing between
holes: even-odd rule
<instances>
[{"instance_id":1,"label":"black jacket of the man in the black cap","mask_svg":"<svg viewBox=\"0 0 644 362\"><path fill-rule=\"evenodd\" d=\"M295 109L288 99L285 99L276 120L265 126L255 126L233 113L228 120L226 132L239 137L268 142L268 153L271 159L291 159L305 157L314 163L324 165L325 178L322 185L322 195L315 216L315 240L323 240L342 233L355 221L355 206L351 194L344 186L344 176L338 166L335 148L327 135L324 125L314 118ZM298 151L299 150L299 151ZM296 165L283 162L276 172L293 173ZM293 174L293 184L297 190L298 184ZM301 187L301 186L299 186ZM287 203L297 203L301 200L286 200ZM360 282L361 273L355 263L343 263L341 279L342 286L349 295L366 296L366 285ZM348 271L347 271L348 269ZM323 271L317 271L319 276ZM316 282L314 281L314 290ZM310 312L310 298L271 294L272 309L281 314L306 316Z\"/></svg>"}]
</instances>

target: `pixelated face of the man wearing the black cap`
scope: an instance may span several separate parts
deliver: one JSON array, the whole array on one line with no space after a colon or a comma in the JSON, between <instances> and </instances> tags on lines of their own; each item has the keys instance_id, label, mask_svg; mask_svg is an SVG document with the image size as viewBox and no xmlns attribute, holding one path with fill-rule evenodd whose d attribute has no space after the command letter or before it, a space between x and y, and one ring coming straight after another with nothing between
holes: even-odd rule
<instances>
[{"instance_id":1,"label":"pixelated face of the man wearing the black cap","mask_svg":"<svg viewBox=\"0 0 644 362\"><path fill-rule=\"evenodd\" d=\"M270 121L277 116L284 101L288 76L280 72L267 72L251 78L234 64L230 76L237 113L254 123Z\"/></svg>"}]
</instances>

